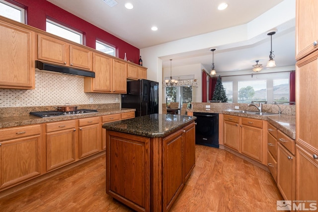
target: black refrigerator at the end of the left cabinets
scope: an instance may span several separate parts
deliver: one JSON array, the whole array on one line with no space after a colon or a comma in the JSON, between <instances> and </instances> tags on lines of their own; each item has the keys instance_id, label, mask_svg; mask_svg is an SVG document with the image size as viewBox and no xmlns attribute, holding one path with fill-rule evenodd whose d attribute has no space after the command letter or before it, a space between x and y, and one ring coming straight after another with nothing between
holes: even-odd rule
<instances>
[{"instance_id":1,"label":"black refrigerator at the end of the left cabinets","mask_svg":"<svg viewBox=\"0 0 318 212\"><path fill-rule=\"evenodd\" d=\"M128 81L127 94L121 95L121 107L136 109L136 117L159 113L158 84L147 79Z\"/></svg>"}]
</instances>

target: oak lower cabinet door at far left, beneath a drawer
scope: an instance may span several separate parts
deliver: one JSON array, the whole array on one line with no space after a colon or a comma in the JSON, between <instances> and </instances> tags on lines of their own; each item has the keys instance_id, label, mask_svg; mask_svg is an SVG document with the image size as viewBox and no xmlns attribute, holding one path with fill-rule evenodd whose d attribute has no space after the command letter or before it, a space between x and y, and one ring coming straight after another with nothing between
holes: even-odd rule
<instances>
[{"instance_id":1,"label":"oak lower cabinet door at far left, beneath a drawer","mask_svg":"<svg viewBox=\"0 0 318 212\"><path fill-rule=\"evenodd\" d=\"M41 136L0 142L0 189L41 175Z\"/></svg>"}]
</instances>

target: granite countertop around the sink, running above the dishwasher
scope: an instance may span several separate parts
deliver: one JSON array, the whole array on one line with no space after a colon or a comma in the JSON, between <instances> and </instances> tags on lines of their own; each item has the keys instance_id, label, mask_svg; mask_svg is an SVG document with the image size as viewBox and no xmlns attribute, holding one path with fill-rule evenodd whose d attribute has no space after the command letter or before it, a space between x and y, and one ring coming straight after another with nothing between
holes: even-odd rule
<instances>
[{"instance_id":1,"label":"granite countertop around the sink, running above the dishwasher","mask_svg":"<svg viewBox=\"0 0 318 212\"><path fill-rule=\"evenodd\" d=\"M199 113L222 113L246 118L253 118L253 119L261 119L268 121L271 125L276 127L278 130L285 133L292 139L296 139L296 116L295 115L271 115L271 116L261 116L261 115L254 115L254 114L246 114L246 113L237 113L233 111L227 110L218 110L218 109L211 109L211 110L192 110L188 109L187 112L199 112Z\"/></svg>"}]
</instances>

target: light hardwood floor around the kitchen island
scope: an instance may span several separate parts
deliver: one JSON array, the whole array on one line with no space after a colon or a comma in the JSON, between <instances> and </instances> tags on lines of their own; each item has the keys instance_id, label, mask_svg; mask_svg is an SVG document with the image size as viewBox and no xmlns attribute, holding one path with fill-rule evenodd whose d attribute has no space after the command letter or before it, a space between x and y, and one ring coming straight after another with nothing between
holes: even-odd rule
<instances>
[{"instance_id":1,"label":"light hardwood floor around the kitchen island","mask_svg":"<svg viewBox=\"0 0 318 212\"><path fill-rule=\"evenodd\" d=\"M196 145L196 165L171 212L276 212L269 172L224 150ZM105 155L0 199L0 212L130 212L105 191Z\"/></svg>"}]
</instances>

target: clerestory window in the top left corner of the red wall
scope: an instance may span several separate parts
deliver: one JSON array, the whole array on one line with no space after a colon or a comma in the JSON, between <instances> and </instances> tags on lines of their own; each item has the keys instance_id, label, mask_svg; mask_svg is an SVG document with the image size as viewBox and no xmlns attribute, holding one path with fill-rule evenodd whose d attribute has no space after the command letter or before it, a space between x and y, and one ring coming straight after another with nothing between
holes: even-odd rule
<instances>
[{"instance_id":1,"label":"clerestory window in the top left corner of the red wall","mask_svg":"<svg viewBox=\"0 0 318 212\"><path fill-rule=\"evenodd\" d=\"M0 15L21 23L25 23L24 13L25 10L23 8L5 0L0 0Z\"/></svg>"}]
</instances>

